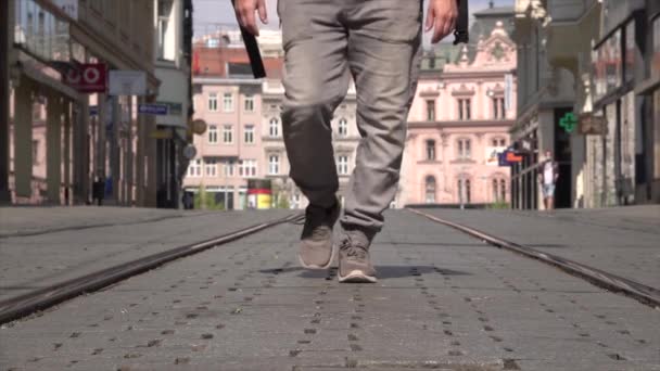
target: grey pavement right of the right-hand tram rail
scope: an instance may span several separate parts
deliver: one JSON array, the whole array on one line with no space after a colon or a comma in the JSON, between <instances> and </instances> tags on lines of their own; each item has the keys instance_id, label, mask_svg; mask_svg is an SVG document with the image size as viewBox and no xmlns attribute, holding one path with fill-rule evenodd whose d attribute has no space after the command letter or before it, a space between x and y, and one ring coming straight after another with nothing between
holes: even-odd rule
<instances>
[{"instance_id":1,"label":"grey pavement right of the right-hand tram rail","mask_svg":"<svg viewBox=\"0 0 660 371\"><path fill-rule=\"evenodd\" d=\"M660 206L554 213L423 209L660 290Z\"/></svg>"}]
</instances>

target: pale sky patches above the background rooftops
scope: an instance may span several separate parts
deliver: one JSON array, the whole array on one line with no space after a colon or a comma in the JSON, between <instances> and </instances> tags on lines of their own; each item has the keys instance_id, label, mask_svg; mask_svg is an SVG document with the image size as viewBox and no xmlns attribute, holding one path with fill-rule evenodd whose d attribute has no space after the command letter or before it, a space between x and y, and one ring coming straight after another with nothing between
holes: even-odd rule
<instances>
[{"instance_id":1,"label":"pale sky patches above the background rooftops","mask_svg":"<svg viewBox=\"0 0 660 371\"><path fill-rule=\"evenodd\" d=\"M470 12L487 8L490 2L490 0L469 1ZM495 7L513 5L513 0L494 0L494 2ZM276 12L277 0L266 0L266 3L268 11L268 25L262 25L262 27L277 29L279 24ZM231 7L231 0L193 0L193 7L195 36L213 33L218 28L218 26L220 26L221 28L238 27L236 17L233 15L233 9Z\"/></svg>"}]
</instances>

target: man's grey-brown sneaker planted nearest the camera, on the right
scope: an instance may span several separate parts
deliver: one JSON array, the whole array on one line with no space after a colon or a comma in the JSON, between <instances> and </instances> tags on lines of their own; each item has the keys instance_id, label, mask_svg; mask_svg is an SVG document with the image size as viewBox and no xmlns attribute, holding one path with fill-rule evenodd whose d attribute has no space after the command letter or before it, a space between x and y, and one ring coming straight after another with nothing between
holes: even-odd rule
<instances>
[{"instance_id":1,"label":"man's grey-brown sneaker planted nearest the camera, on the right","mask_svg":"<svg viewBox=\"0 0 660 371\"><path fill-rule=\"evenodd\" d=\"M373 235L360 230L346 230L339 246L339 282L375 283L376 269L369 259Z\"/></svg>"}]
</instances>

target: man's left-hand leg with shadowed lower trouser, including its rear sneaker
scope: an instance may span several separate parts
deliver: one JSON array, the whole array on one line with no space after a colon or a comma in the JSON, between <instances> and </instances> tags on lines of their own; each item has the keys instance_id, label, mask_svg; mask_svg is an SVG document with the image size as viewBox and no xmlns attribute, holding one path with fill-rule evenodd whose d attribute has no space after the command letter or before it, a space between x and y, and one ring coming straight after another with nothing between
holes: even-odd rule
<instances>
[{"instance_id":1,"label":"man's left-hand leg with shadowed lower trouser, including its rear sneaker","mask_svg":"<svg viewBox=\"0 0 660 371\"><path fill-rule=\"evenodd\" d=\"M337 1L278 2L285 52L282 129L291 178L309 200L299 258L305 268L332 264L332 227L339 181L332 151L332 114L350 75L347 36Z\"/></svg>"}]
</instances>

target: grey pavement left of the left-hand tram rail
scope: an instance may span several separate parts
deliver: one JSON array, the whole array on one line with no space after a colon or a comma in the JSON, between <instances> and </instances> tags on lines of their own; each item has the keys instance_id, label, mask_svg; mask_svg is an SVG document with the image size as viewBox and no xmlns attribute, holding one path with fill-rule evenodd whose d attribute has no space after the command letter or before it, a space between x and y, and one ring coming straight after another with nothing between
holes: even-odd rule
<instances>
[{"instance_id":1,"label":"grey pavement left of the left-hand tram rail","mask_svg":"<svg viewBox=\"0 0 660 371\"><path fill-rule=\"evenodd\" d=\"M97 217L94 222L100 227L89 227L81 219L89 213L85 209L69 208L68 219L64 208L45 208L43 220L34 223L42 233L0 238L0 299L292 214L167 212L164 215L169 217L154 218L158 214L145 209L135 209L136 215L131 216L128 208L110 208L105 218ZM48 232L43 226L56 217L66 220L63 225L68 229Z\"/></svg>"}]
</instances>

